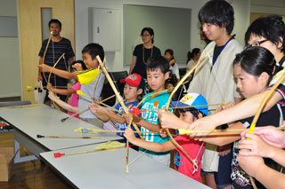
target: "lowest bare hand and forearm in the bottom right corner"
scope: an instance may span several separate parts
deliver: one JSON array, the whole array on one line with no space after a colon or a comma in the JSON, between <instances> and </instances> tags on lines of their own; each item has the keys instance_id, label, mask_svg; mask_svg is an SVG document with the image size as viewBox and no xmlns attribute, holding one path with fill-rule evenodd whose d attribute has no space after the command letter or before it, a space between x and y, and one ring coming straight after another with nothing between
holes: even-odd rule
<instances>
[{"instance_id":1,"label":"lowest bare hand and forearm in the bottom right corner","mask_svg":"<svg viewBox=\"0 0 285 189\"><path fill-rule=\"evenodd\" d=\"M282 156L284 157L284 156ZM285 188L285 175L265 165L260 156L238 156L241 169L255 177L265 188Z\"/></svg>"}]
</instances>

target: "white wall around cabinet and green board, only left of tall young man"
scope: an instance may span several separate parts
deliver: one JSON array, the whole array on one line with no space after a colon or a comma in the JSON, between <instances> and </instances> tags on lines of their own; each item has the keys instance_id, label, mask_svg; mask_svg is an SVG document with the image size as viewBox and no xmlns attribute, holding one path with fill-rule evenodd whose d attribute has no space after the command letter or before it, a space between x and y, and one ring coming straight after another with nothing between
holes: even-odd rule
<instances>
[{"instance_id":1,"label":"white wall around cabinet and green board, only left of tall young man","mask_svg":"<svg viewBox=\"0 0 285 189\"><path fill-rule=\"evenodd\" d=\"M75 15L76 15L76 55L77 59L81 58L81 50L88 43L88 7L98 8L112 8L118 9L122 13L121 18L121 50L114 52L107 52L107 61L111 71L127 70L128 67L124 66L124 40L123 40L123 4L142 4L153 6L168 6L179 8L190 8L191 15L191 47L202 47L203 44L199 40L198 28L198 12L199 8L205 4L207 0L76 0L75 1ZM139 35L139 34L138 34ZM190 48L191 48L190 47Z\"/></svg>"}]
</instances>

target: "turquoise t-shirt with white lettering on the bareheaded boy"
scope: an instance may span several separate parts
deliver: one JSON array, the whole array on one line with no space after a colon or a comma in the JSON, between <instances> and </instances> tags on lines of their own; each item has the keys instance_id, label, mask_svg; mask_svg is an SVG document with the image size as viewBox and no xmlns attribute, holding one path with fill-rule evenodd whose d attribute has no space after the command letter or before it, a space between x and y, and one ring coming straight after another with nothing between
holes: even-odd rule
<instances>
[{"instance_id":1,"label":"turquoise t-shirt with white lettering on the bareheaded boy","mask_svg":"<svg viewBox=\"0 0 285 189\"><path fill-rule=\"evenodd\" d=\"M145 95L143 98L150 96L153 92ZM150 110L150 109L159 109L159 108L165 108L167 106L167 100L169 98L169 94L167 91L159 93L155 98L147 98L142 102L142 110ZM170 110L172 111L172 110ZM146 122L151 122L154 124L159 124L159 115L158 111L147 111L147 112L142 112L142 120ZM144 127L141 127L141 131L151 131L148 130ZM157 142L157 143L164 143L170 140L169 137L167 138L161 138L159 134L154 134L154 133L142 133L143 138L146 141L151 141L151 142ZM144 148L140 148L142 152L145 151ZM154 155L165 155L169 154L170 151L163 152L163 153L157 153L157 152L152 152L152 151L146 151L147 154L154 154Z\"/></svg>"}]
</instances>

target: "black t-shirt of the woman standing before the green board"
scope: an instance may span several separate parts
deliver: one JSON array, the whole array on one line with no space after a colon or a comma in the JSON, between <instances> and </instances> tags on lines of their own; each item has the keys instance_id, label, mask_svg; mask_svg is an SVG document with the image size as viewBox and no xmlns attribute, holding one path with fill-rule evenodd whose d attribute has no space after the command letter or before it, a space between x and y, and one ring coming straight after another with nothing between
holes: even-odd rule
<instances>
[{"instance_id":1,"label":"black t-shirt of the woman standing before the green board","mask_svg":"<svg viewBox=\"0 0 285 189\"><path fill-rule=\"evenodd\" d=\"M136 73L141 75L143 78L146 78L146 68L145 64L148 61L148 59L151 58L151 51L152 51L152 57L160 56L161 52L159 48L156 46L153 46L151 49L144 48L144 51L142 50L142 44L136 45L134 48L133 55L136 57L136 62L134 69L132 71L132 74ZM144 62L142 59L142 54L144 55Z\"/></svg>"}]
</instances>

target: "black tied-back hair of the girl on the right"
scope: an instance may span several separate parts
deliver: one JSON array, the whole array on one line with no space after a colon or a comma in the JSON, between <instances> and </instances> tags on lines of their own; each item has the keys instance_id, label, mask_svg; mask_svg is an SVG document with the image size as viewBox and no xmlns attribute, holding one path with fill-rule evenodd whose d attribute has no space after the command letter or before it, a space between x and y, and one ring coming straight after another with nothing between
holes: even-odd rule
<instances>
[{"instance_id":1,"label":"black tied-back hair of the girl on the right","mask_svg":"<svg viewBox=\"0 0 285 189\"><path fill-rule=\"evenodd\" d=\"M271 51L260 46L252 46L241 51L233 60L233 65L240 65L241 69L250 75L258 77L263 72L270 75L270 83L273 75L279 72L282 67L276 66Z\"/></svg>"}]
</instances>

